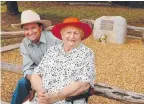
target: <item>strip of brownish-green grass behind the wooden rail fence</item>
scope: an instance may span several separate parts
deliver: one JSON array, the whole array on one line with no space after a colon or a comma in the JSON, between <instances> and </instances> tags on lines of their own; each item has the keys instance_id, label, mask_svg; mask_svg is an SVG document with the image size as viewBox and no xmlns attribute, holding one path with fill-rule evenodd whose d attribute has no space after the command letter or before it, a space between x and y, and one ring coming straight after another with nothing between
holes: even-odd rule
<instances>
[{"instance_id":1,"label":"strip of brownish-green grass behind the wooden rail fence","mask_svg":"<svg viewBox=\"0 0 144 104\"><path fill-rule=\"evenodd\" d=\"M144 9L112 6L70 6L61 2L19 2L19 9L32 9L48 18L63 19L65 17L78 17L80 19L96 19L101 16L122 16L127 21L143 19ZM22 5L22 6L21 6Z\"/></svg>"}]
</instances>

